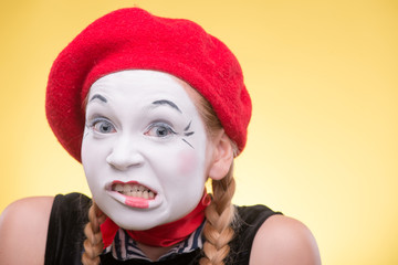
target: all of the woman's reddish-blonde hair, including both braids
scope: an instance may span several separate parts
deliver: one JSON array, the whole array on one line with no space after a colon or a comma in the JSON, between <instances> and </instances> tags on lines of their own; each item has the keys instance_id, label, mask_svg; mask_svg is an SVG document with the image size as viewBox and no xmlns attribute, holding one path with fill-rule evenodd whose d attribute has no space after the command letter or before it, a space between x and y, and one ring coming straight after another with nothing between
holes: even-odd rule
<instances>
[{"instance_id":1,"label":"all of the woman's reddish-blonde hair, including both braids","mask_svg":"<svg viewBox=\"0 0 398 265\"><path fill-rule=\"evenodd\" d=\"M222 129L222 125L218 119L210 104L197 91L188 88L187 93L192 98L199 115L201 116L209 137L213 137L216 132ZM231 141L233 156L238 155L238 148ZM203 254L200 258L200 265L224 265L224 259L230 253L229 243L232 241L234 231L232 222L235 216L234 206L231 203L235 190L235 181L233 179L233 165L229 172L221 180L212 180L212 200L206 209L206 223L203 227ZM82 263L84 265L97 265L101 263L100 254L103 252L102 234L100 224L104 222L105 215L93 201L88 209L88 223L85 225L84 234L84 253L82 254Z\"/></svg>"}]
</instances>

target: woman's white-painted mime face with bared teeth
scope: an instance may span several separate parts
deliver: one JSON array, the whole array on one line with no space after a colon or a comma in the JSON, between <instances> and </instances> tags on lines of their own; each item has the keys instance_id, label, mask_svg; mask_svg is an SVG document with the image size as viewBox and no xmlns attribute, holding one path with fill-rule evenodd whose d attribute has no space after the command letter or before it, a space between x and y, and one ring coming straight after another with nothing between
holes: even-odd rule
<instances>
[{"instance_id":1,"label":"woman's white-painted mime face with bared teeth","mask_svg":"<svg viewBox=\"0 0 398 265\"><path fill-rule=\"evenodd\" d=\"M203 195L211 148L186 89L172 75L138 70L91 87L82 162L95 202L121 227L176 221Z\"/></svg>"}]
</instances>

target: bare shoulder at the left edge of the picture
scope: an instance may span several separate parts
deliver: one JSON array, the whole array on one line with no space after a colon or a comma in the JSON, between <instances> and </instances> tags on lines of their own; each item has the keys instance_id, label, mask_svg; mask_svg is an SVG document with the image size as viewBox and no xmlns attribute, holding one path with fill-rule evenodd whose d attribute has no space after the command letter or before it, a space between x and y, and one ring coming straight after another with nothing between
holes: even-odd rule
<instances>
[{"instance_id":1,"label":"bare shoulder at the left edge of the picture","mask_svg":"<svg viewBox=\"0 0 398 265\"><path fill-rule=\"evenodd\" d=\"M0 215L0 264L44 264L53 200L25 198L6 208Z\"/></svg>"}]
</instances>

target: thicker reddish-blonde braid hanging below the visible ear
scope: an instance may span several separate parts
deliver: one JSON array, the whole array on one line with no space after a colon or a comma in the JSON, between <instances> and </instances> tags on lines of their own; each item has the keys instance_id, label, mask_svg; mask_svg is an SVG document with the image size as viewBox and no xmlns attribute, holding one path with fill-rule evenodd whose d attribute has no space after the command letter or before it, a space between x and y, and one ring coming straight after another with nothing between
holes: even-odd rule
<instances>
[{"instance_id":1,"label":"thicker reddish-blonde braid hanging below the visible ear","mask_svg":"<svg viewBox=\"0 0 398 265\"><path fill-rule=\"evenodd\" d=\"M232 167L221 180L212 181L213 200L206 209L206 224L203 234L205 257L200 265L224 265L223 259L230 252L229 242L233 239L231 223L234 219L234 208L231 203L235 182L232 176Z\"/></svg>"}]
</instances>

